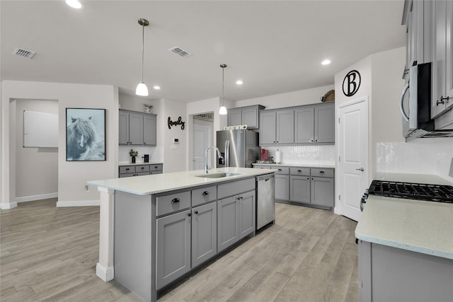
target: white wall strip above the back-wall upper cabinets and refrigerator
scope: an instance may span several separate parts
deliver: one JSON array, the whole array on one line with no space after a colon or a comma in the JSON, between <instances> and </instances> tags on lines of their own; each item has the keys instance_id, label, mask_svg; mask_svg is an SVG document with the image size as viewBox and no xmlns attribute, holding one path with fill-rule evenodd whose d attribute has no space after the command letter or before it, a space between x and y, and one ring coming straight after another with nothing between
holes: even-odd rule
<instances>
[{"instance_id":1,"label":"white wall strip above the back-wall upper cabinets and refrigerator","mask_svg":"<svg viewBox=\"0 0 453 302\"><path fill-rule=\"evenodd\" d=\"M247 100L238 100L234 107L243 107L248 105L263 105L265 109L285 108L300 105L310 105L321 103L321 97L335 86L321 86L302 91L292 91L277 95L268 95L261 98L249 98Z\"/></svg>"}]
</instances>

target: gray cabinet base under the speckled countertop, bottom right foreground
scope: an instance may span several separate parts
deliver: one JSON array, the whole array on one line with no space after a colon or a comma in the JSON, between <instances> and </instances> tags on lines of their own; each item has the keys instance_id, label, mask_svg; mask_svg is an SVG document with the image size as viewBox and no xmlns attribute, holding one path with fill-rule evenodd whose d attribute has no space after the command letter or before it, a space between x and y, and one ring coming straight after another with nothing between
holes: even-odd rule
<instances>
[{"instance_id":1,"label":"gray cabinet base under the speckled countertop, bottom right foreground","mask_svg":"<svg viewBox=\"0 0 453 302\"><path fill-rule=\"evenodd\" d=\"M453 301L451 259L362 240L358 256L360 302Z\"/></svg>"}]
</instances>

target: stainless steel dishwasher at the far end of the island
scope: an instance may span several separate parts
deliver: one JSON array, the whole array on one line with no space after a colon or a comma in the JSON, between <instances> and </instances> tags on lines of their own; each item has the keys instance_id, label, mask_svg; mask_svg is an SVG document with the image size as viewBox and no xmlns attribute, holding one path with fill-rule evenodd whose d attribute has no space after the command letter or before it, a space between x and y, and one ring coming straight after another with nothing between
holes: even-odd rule
<instances>
[{"instance_id":1,"label":"stainless steel dishwasher at the far end of the island","mask_svg":"<svg viewBox=\"0 0 453 302\"><path fill-rule=\"evenodd\" d=\"M275 176L274 173L256 177L256 229L275 222Z\"/></svg>"}]
</instances>

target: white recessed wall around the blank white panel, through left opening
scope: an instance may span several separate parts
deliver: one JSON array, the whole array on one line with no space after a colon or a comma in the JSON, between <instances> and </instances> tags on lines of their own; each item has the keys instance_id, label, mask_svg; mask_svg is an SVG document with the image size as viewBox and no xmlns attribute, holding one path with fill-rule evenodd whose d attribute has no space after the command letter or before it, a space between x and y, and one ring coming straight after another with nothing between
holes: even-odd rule
<instances>
[{"instance_id":1,"label":"white recessed wall around the blank white panel, through left opening","mask_svg":"<svg viewBox=\"0 0 453 302\"><path fill-rule=\"evenodd\" d=\"M58 102L16 100L16 201L57 197L58 148L23 147L24 110L58 114Z\"/></svg>"}]
</instances>

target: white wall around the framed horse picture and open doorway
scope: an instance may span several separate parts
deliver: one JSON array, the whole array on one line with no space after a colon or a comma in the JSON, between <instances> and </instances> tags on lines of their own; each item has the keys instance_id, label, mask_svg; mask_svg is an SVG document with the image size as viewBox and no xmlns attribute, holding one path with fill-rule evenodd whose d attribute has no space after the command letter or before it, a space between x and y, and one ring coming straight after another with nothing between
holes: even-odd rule
<instances>
[{"instance_id":1,"label":"white wall around the framed horse picture and open doorway","mask_svg":"<svg viewBox=\"0 0 453 302\"><path fill-rule=\"evenodd\" d=\"M16 116L16 99L43 99L58 101L59 153L58 192L59 206L98 204L99 193L91 187L85 191L87 180L114 178L118 158L118 93L107 85L2 81L1 83L1 152L2 183L1 208L16 206L16 144L10 135L10 116ZM66 161L66 108L106 109L106 161ZM9 115L9 114L12 115ZM14 113L14 114L13 114ZM12 130L11 130L12 131Z\"/></svg>"}]
</instances>

